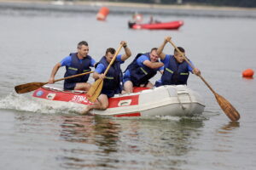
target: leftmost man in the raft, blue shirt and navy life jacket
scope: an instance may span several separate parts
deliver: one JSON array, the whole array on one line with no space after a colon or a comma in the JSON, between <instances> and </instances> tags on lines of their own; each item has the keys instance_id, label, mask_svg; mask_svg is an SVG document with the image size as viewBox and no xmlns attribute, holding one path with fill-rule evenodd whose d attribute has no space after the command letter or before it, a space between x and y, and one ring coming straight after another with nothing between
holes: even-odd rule
<instances>
[{"instance_id":1,"label":"leftmost man in the raft, blue shirt and navy life jacket","mask_svg":"<svg viewBox=\"0 0 256 170\"><path fill-rule=\"evenodd\" d=\"M95 59L92 59L90 55L88 55L89 46L87 42L79 42L77 49L77 53L69 54L66 58L62 59L60 63L57 63L54 66L49 77L49 83L54 83L55 74L61 66L66 66L66 73L64 77L71 77L73 75L90 71L90 67L95 65ZM90 74L66 79L64 82L64 89L88 91L90 88L90 83L87 82L89 77Z\"/></svg>"}]
</instances>

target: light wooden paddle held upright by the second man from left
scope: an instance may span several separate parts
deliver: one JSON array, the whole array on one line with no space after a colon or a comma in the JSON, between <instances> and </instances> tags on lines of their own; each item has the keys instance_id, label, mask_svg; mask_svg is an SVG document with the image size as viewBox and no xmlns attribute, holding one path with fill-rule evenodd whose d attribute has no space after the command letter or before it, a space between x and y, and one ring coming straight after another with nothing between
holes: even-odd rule
<instances>
[{"instance_id":1,"label":"light wooden paddle held upright by the second man from left","mask_svg":"<svg viewBox=\"0 0 256 170\"><path fill-rule=\"evenodd\" d=\"M115 54L113 55L113 59L111 59L110 63L108 64L108 67L106 69L106 71L104 72L104 76L107 75L108 70L110 69L111 65L113 65L114 60L116 59L116 56L119 54L119 51L121 50L121 48L123 47L123 45L120 45L120 47L118 48L118 50L115 52ZM94 82L87 95L87 99L89 99L91 102L95 102L96 99L98 98L98 96L101 94L102 92L102 87L103 87L103 79L102 78L98 78L96 80L96 82Z\"/></svg>"}]
</instances>

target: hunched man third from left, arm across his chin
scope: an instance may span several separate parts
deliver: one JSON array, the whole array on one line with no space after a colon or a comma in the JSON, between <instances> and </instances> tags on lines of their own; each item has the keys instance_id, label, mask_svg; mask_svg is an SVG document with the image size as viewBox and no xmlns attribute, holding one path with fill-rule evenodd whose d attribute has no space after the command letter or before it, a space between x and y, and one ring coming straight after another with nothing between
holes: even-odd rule
<instances>
[{"instance_id":1,"label":"hunched man third from left, arm across his chin","mask_svg":"<svg viewBox=\"0 0 256 170\"><path fill-rule=\"evenodd\" d=\"M130 65L125 70L124 90L130 94L133 86L153 88L154 85L149 79L156 75L157 71L163 71L163 63L159 62L157 48L152 48L150 53L137 54Z\"/></svg>"}]
</instances>

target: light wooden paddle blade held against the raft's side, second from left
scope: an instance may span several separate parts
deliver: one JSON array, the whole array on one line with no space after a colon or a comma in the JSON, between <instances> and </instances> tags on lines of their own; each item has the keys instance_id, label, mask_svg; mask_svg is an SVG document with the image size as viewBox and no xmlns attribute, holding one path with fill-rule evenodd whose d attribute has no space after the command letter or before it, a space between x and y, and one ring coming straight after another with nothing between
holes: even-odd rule
<instances>
[{"instance_id":1,"label":"light wooden paddle blade held against the raft's side, second from left","mask_svg":"<svg viewBox=\"0 0 256 170\"><path fill-rule=\"evenodd\" d=\"M91 85L88 93L86 94L87 99L89 99L90 102L95 102L98 96L102 92L102 87L103 87L103 80L99 78L98 80L96 80L96 82L94 82Z\"/></svg>"}]
</instances>

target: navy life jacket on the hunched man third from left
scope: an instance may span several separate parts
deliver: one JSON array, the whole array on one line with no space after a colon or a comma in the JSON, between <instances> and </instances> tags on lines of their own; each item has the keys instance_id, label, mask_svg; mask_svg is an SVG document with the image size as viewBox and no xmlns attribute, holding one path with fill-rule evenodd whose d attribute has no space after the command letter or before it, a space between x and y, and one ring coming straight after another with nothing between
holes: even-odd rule
<instances>
[{"instance_id":1,"label":"navy life jacket on the hunched man third from left","mask_svg":"<svg viewBox=\"0 0 256 170\"><path fill-rule=\"evenodd\" d=\"M156 69L151 69L146 65L140 66L137 64L137 59L142 55L146 55L148 57L148 60L150 60L149 53L137 54L135 59L133 59L131 64L128 65L126 68L126 70L130 71L131 82L133 83L134 86L140 86L141 84L148 83L148 80L154 77L154 75L157 73Z\"/></svg>"}]
</instances>

